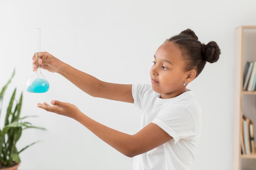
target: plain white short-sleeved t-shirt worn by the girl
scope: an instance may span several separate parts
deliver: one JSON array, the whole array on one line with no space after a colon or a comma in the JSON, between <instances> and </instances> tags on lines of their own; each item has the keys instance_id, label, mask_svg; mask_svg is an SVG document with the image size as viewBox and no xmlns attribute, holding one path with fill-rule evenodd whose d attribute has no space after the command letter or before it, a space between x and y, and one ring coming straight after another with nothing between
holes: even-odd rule
<instances>
[{"instance_id":1,"label":"plain white short-sleeved t-shirt worn by the girl","mask_svg":"<svg viewBox=\"0 0 256 170\"><path fill-rule=\"evenodd\" d=\"M173 139L134 157L133 170L190 170L201 133L201 109L191 91L162 99L151 84L133 84L132 97L142 110L141 128L153 122Z\"/></svg>"}]
</instances>

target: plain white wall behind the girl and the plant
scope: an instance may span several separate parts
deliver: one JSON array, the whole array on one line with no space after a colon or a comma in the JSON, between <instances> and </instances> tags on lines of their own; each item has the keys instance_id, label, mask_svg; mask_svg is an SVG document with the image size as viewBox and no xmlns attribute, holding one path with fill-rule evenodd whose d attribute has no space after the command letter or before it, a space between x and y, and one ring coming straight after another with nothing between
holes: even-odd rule
<instances>
[{"instance_id":1,"label":"plain white wall behind the girl and the plant","mask_svg":"<svg viewBox=\"0 0 256 170\"><path fill-rule=\"evenodd\" d=\"M47 113L38 102L58 99L76 104L91 118L122 132L139 130L139 110L132 104L92 98L56 73L42 71L49 92L25 91L32 75L35 28L42 28L42 51L99 79L115 83L150 83L153 55L167 38L191 28L201 42L216 41L222 54L189 84L203 110L203 130L193 170L231 170L233 138L234 33L255 25L253 0L1 0L0 87L16 75L24 93L22 115L47 131L26 130L18 147L43 140L22 152L22 170L131 170L125 157L73 119ZM18 97L18 96L17 96ZM3 110L5 111L5 110ZM2 113L3 114L3 113Z\"/></svg>"}]
</instances>

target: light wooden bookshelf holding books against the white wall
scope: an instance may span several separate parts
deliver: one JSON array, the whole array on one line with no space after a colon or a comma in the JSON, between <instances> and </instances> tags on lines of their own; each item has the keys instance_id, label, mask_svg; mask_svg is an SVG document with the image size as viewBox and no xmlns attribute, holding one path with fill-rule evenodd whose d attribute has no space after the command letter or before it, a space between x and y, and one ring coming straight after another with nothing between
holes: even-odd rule
<instances>
[{"instance_id":1,"label":"light wooden bookshelf holding books against the white wall","mask_svg":"<svg viewBox=\"0 0 256 170\"><path fill-rule=\"evenodd\" d=\"M256 154L242 154L240 144L243 115L254 122L256 137L256 91L243 91L246 62L256 61L256 26L236 28L235 45L233 170L246 170L248 167L256 170Z\"/></svg>"}]
</instances>

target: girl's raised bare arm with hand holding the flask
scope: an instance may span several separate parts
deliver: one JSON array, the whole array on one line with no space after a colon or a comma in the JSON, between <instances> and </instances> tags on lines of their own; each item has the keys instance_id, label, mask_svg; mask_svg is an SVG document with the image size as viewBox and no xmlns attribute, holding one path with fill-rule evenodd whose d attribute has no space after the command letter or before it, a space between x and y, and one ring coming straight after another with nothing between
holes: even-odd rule
<instances>
[{"instance_id":1,"label":"girl's raised bare arm with hand holding the flask","mask_svg":"<svg viewBox=\"0 0 256 170\"><path fill-rule=\"evenodd\" d=\"M85 93L93 97L101 97L121 102L133 103L131 84L114 84L103 82L92 75L77 70L76 68L58 60L47 52L40 52L38 66L36 66L36 57L33 56L33 70L39 66L47 71L56 72L72 82Z\"/></svg>"}]
</instances>

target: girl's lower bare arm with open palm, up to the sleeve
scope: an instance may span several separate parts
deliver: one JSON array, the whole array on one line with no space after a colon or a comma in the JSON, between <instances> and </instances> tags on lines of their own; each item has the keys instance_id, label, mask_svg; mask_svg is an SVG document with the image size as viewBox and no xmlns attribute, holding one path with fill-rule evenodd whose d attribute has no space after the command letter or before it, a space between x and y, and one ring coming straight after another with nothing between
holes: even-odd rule
<instances>
[{"instance_id":1,"label":"girl's lower bare arm with open palm, up to the sleeve","mask_svg":"<svg viewBox=\"0 0 256 170\"><path fill-rule=\"evenodd\" d=\"M52 104L53 106L47 103L38 104L38 107L79 121L100 139L128 157L152 150L172 139L162 128L153 123L148 124L135 135L128 135L90 119L73 104L60 101L52 101Z\"/></svg>"}]
</instances>

